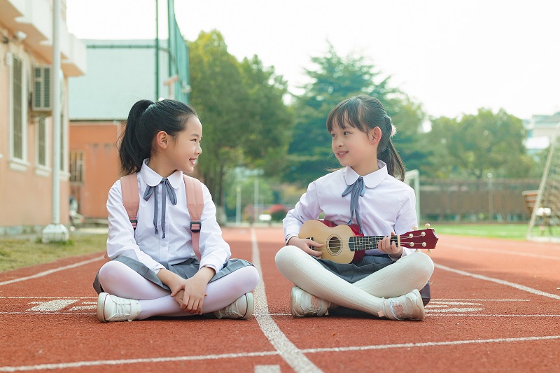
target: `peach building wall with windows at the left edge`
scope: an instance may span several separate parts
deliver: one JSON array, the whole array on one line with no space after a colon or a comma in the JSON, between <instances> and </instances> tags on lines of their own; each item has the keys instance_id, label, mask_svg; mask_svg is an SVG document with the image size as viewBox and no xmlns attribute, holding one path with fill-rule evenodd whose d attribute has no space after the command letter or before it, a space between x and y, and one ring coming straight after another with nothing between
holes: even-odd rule
<instances>
[{"instance_id":1,"label":"peach building wall with windows at the left edge","mask_svg":"<svg viewBox=\"0 0 560 373\"><path fill-rule=\"evenodd\" d=\"M52 116L45 122L45 165L38 162L40 113L32 111L34 66L52 64L52 16L50 1L0 1L0 234L41 232L52 223ZM65 13L63 7L62 13ZM63 17L64 14L61 15ZM85 71L85 45L66 31L62 19L62 171L59 220L69 224L68 174L68 77ZM16 36L20 36L19 38ZM22 36L23 35L23 36ZM72 48L69 47L72 45ZM22 157L14 157L10 108L13 89L10 75L13 57L22 63ZM76 58L78 63L76 63ZM60 165L57 165L60 167Z\"/></svg>"}]
</instances>

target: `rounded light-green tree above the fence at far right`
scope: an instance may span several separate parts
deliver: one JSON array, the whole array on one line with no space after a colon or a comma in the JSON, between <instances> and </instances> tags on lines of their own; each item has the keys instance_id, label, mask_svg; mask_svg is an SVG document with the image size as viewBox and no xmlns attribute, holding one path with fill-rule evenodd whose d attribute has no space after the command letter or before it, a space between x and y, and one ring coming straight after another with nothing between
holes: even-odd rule
<instances>
[{"instance_id":1,"label":"rounded light-green tree above the fence at far right","mask_svg":"<svg viewBox=\"0 0 560 373\"><path fill-rule=\"evenodd\" d=\"M526 130L517 117L500 109L479 108L476 115L433 120L430 137L440 143L440 177L526 177L533 159L526 155Z\"/></svg>"}]
</instances>

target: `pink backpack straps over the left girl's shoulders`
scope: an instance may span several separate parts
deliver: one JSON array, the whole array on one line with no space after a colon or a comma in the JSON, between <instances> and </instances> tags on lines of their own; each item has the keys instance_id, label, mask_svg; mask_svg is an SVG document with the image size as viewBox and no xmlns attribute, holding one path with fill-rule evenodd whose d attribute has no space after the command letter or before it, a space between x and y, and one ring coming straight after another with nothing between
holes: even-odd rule
<instances>
[{"instance_id":1,"label":"pink backpack straps over the left girl's shoulders","mask_svg":"<svg viewBox=\"0 0 560 373\"><path fill-rule=\"evenodd\" d=\"M183 175L187 193L187 208L190 214L190 232L193 234L193 250L200 262L200 228L202 223L202 210L204 209L204 196L202 195L202 183L197 178ZM140 206L140 195L138 192L137 174L130 174L120 178L120 190L123 192L123 205L130 219L132 227L136 229L138 208Z\"/></svg>"}]
</instances>

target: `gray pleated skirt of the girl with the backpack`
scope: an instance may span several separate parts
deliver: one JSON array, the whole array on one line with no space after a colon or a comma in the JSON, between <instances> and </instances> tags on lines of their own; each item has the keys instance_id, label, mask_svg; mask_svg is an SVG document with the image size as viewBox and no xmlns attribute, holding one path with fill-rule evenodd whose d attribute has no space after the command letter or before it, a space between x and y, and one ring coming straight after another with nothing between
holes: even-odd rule
<instances>
[{"instance_id":1,"label":"gray pleated skirt of the girl with the backpack","mask_svg":"<svg viewBox=\"0 0 560 373\"><path fill-rule=\"evenodd\" d=\"M171 291L171 289L169 289L169 287L165 285L165 283L162 283L162 281L158 278L158 276L151 269L146 267L144 263L141 263L138 260L129 258L127 256L120 256L113 260L122 262L128 267L134 269L134 271L141 274L141 276L143 276L145 279L155 283L156 285L164 288L165 290ZM166 269L169 269L169 271L178 274L183 279L190 279L191 277L195 276L195 274L198 272L198 269L200 267L200 262L197 260L197 258L190 258L185 260L184 262L177 263L176 265L170 265L167 262L162 262L160 264L163 265ZM210 279L209 282L216 281L217 279L221 279L223 276L226 276L234 271L237 271L237 269L248 267L250 265L252 265L251 262L248 262L247 260L230 259L228 260L228 262L225 263L225 266ZM97 291L97 294L103 292L101 283L99 283L99 272L97 272L97 275L95 276L95 279L93 281L93 288L95 289L95 291Z\"/></svg>"}]
</instances>

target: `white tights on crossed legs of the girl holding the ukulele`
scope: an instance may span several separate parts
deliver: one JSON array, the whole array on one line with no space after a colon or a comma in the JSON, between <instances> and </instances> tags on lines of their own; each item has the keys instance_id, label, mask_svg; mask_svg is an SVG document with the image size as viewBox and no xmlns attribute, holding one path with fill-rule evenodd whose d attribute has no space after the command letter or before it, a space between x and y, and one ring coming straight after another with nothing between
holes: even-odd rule
<instances>
[{"instance_id":1,"label":"white tights on crossed legs of the girl holding the ukulele","mask_svg":"<svg viewBox=\"0 0 560 373\"><path fill-rule=\"evenodd\" d=\"M377 316L383 298L398 297L420 290L433 273L433 262L414 252L355 283L349 283L325 269L311 255L296 246L276 253L276 266L286 279L323 300Z\"/></svg>"}]
</instances>

